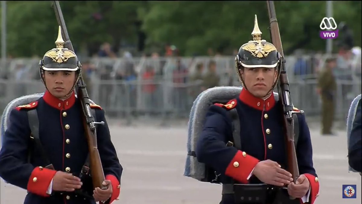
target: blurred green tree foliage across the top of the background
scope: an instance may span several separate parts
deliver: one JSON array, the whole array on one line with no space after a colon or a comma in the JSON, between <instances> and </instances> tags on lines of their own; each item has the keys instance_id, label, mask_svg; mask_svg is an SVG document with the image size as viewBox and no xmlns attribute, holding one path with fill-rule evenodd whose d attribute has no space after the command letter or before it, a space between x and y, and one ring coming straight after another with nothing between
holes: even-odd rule
<instances>
[{"instance_id":1,"label":"blurred green tree foliage across the top of the background","mask_svg":"<svg viewBox=\"0 0 362 204\"><path fill-rule=\"evenodd\" d=\"M251 40L254 14L262 37L270 41L265 1L60 1L73 46L96 51L102 42L136 44L138 27L147 48L176 45L182 55L207 54L212 48L231 54ZM325 50L319 24L325 1L275 1L285 54L296 48ZM94 17L99 14L101 19ZM337 24L345 21L361 46L361 1L333 1ZM42 56L57 34L49 1L7 1L7 51L13 57Z\"/></svg>"}]
</instances>

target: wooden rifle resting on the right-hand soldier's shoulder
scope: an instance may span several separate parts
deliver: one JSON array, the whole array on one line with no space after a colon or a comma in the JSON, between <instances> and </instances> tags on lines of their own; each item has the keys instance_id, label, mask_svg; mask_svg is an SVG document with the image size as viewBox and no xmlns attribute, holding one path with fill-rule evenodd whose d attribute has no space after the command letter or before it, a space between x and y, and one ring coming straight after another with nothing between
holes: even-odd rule
<instances>
[{"instance_id":1,"label":"wooden rifle resting on the right-hand soldier's shoulder","mask_svg":"<svg viewBox=\"0 0 362 204\"><path fill-rule=\"evenodd\" d=\"M296 152L294 146L294 118L293 104L290 98L289 80L286 72L285 58L283 53L282 41L279 33L279 26L277 17L275 15L274 1L266 1L268 5L269 21L270 21L270 34L271 43L277 48L280 53L280 76L278 81L279 101L283 110L283 126L285 133L285 140L287 144L287 171L292 174L293 181L298 179L299 170L298 162L296 159Z\"/></svg>"}]
</instances>

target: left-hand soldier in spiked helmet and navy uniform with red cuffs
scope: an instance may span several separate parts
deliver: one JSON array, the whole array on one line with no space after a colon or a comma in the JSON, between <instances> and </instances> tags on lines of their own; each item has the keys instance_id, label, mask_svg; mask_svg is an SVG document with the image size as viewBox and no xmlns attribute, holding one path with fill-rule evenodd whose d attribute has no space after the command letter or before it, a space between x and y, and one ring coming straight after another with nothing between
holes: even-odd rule
<instances>
[{"instance_id":1,"label":"left-hand soldier in spiked helmet and navy uniform with red cuffs","mask_svg":"<svg viewBox=\"0 0 362 204\"><path fill-rule=\"evenodd\" d=\"M96 121L105 123L97 126L97 144L106 179L103 185L108 188L94 189L92 170L87 171L85 165L89 151L80 100L74 92L80 63L74 52L63 48L60 26L55 44L40 62L45 94L10 112L0 151L0 176L28 191L24 204L112 203L118 200L123 168L110 139L105 111L98 105L90 106ZM30 118L30 111L37 117ZM38 121L35 131L29 125L34 121Z\"/></svg>"}]
</instances>

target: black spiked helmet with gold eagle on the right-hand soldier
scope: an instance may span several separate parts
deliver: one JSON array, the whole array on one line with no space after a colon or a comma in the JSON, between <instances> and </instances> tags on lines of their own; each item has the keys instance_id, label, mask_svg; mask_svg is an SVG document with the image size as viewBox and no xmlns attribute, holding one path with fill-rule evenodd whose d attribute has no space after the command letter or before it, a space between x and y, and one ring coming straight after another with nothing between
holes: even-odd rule
<instances>
[{"instance_id":1,"label":"black spiked helmet with gold eagle on the right-hand soldier","mask_svg":"<svg viewBox=\"0 0 362 204\"><path fill-rule=\"evenodd\" d=\"M237 74L239 76L240 82L243 83L243 86L244 82L240 76L239 69L276 68L280 61L279 53L275 46L270 42L261 39L262 32L259 29L256 15L254 30L251 34L253 36L253 40L245 43L244 45L241 45L239 52L235 57Z\"/></svg>"}]
</instances>

